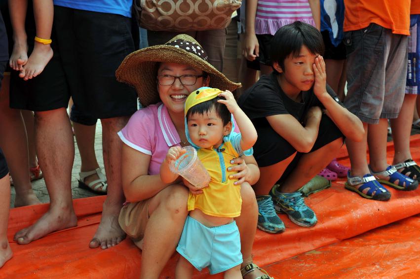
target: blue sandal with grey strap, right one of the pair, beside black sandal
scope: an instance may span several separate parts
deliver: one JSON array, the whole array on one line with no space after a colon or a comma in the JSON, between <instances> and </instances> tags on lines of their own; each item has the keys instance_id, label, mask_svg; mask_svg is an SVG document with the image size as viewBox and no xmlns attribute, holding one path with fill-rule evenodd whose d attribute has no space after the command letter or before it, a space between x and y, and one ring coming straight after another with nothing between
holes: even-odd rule
<instances>
[{"instance_id":1,"label":"blue sandal with grey strap, right one of the pair, beside black sandal","mask_svg":"<svg viewBox=\"0 0 420 279\"><path fill-rule=\"evenodd\" d=\"M419 186L419 181L413 180L410 177L405 176L404 174L398 173L397 169L395 169L393 166L388 166L383 172L372 172L372 174L374 174L378 178L378 181L380 183L388 185L397 190L412 191L416 190ZM389 180L384 179L388 176ZM398 184L394 183L396 180L398 180Z\"/></svg>"}]
</instances>

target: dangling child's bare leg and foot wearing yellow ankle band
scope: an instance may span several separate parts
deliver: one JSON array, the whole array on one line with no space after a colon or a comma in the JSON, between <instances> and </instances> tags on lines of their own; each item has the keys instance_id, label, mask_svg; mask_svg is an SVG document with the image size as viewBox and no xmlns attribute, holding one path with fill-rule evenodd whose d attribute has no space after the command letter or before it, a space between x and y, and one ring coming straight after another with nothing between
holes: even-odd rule
<instances>
[{"instance_id":1,"label":"dangling child's bare leg and foot wearing yellow ankle band","mask_svg":"<svg viewBox=\"0 0 420 279\"><path fill-rule=\"evenodd\" d=\"M37 37L49 40L51 38L52 21L54 17L54 5L52 0L33 0L35 25ZM29 38L32 39L32 38ZM19 73L25 80L36 77L40 74L52 58L50 43L35 41L34 50L28 58L28 62Z\"/></svg>"}]
</instances>

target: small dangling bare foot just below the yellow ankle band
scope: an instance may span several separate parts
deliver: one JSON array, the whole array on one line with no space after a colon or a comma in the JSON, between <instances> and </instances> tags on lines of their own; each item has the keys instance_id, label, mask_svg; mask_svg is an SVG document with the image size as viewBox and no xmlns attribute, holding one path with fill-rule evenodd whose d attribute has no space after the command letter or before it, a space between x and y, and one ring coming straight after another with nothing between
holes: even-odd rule
<instances>
[{"instance_id":1,"label":"small dangling bare foot just below the yellow ankle band","mask_svg":"<svg viewBox=\"0 0 420 279\"><path fill-rule=\"evenodd\" d=\"M20 71L19 76L24 80L31 79L40 74L51 60L53 51L50 44L35 42L34 50L28 58L28 62Z\"/></svg>"}]
</instances>

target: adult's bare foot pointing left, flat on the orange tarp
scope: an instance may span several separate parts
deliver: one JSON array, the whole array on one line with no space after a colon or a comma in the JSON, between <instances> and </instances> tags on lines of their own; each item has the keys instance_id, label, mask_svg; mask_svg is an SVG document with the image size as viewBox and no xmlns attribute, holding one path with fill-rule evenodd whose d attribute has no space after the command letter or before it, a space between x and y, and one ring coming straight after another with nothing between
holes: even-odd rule
<instances>
[{"instance_id":1,"label":"adult's bare foot pointing left, flat on the orange tarp","mask_svg":"<svg viewBox=\"0 0 420 279\"><path fill-rule=\"evenodd\" d=\"M20 230L13 238L18 244L28 244L49 233L77 226L77 217L73 207L50 208L32 226Z\"/></svg>"}]
</instances>

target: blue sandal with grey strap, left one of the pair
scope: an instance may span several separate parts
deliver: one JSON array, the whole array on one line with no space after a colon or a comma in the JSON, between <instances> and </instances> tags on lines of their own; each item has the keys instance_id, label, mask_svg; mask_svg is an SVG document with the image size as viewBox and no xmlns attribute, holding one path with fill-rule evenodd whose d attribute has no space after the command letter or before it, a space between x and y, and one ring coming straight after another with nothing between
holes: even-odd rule
<instances>
[{"instance_id":1,"label":"blue sandal with grey strap, left one of the pair","mask_svg":"<svg viewBox=\"0 0 420 279\"><path fill-rule=\"evenodd\" d=\"M363 184L361 184L363 183ZM358 187L357 185L361 184ZM372 174L365 174L363 177L350 176L350 172L347 173L347 182L344 184L344 188L347 190L356 192L365 199L375 201L387 201L391 198L391 193L376 180ZM369 189L366 193L363 190Z\"/></svg>"}]
</instances>

